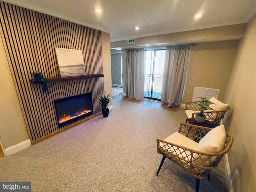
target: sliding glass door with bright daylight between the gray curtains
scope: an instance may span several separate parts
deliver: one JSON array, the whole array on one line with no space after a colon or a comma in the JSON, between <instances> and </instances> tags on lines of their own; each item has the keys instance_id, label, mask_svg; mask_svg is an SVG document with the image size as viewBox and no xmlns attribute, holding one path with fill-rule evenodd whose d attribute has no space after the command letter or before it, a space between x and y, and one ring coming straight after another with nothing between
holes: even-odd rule
<instances>
[{"instance_id":1,"label":"sliding glass door with bright daylight between the gray curtains","mask_svg":"<svg viewBox=\"0 0 256 192\"><path fill-rule=\"evenodd\" d=\"M164 74L165 50L144 51L144 96L160 100Z\"/></svg>"}]
</instances>

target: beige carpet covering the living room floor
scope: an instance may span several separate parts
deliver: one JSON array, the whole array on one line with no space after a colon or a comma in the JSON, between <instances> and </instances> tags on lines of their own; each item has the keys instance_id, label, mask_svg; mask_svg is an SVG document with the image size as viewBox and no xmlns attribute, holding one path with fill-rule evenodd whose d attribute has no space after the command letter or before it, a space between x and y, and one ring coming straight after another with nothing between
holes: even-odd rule
<instances>
[{"instance_id":1,"label":"beige carpet covering the living room floor","mask_svg":"<svg viewBox=\"0 0 256 192\"><path fill-rule=\"evenodd\" d=\"M185 121L178 112L115 99L107 118L92 118L0 159L0 181L31 181L33 192L194 192L195 178L162 156L156 138ZM226 192L223 160L200 192Z\"/></svg>"}]
</instances>

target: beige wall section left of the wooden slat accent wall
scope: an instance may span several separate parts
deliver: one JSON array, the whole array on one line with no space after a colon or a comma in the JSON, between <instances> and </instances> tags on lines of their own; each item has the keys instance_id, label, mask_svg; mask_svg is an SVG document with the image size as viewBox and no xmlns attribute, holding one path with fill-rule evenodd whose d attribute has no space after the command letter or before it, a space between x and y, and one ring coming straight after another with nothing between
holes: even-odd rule
<instances>
[{"instance_id":1,"label":"beige wall section left of the wooden slat accent wall","mask_svg":"<svg viewBox=\"0 0 256 192\"><path fill-rule=\"evenodd\" d=\"M28 140L29 136L1 37L0 60L0 136L4 148L8 148Z\"/></svg>"}]
</instances>

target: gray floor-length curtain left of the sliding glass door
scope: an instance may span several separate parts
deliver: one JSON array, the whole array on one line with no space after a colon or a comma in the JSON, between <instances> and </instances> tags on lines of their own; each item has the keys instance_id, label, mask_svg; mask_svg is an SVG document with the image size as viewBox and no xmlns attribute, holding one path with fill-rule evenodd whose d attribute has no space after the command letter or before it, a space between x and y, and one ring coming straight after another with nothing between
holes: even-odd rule
<instances>
[{"instance_id":1,"label":"gray floor-length curtain left of the sliding glass door","mask_svg":"<svg viewBox=\"0 0 256 192\"><path fill-rule=\"evenodd\" d=\"M127 49L123 54L126 54L126 97L144 100L144 49Z\"/></svg>"}]
</instances>

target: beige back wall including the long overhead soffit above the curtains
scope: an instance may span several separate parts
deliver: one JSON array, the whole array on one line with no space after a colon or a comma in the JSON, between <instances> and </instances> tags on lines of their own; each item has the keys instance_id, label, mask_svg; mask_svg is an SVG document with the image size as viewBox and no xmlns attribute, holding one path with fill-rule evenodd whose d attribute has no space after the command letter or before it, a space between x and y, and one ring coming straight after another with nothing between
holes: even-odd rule
<instances>
[{"instance_id":1,"label":"beige back wall including the long overhead soffit above the curtains","mask_svg":"<svg viewBox=\"0 0 256 192\"><path fill-rule=\"evenodd\" d=\"M214 27L136 38L134 44L126 41L111 42L111 48L142 47L145 44L185 44L190 46L188 74L182 104L192 101L194 87L220 89L219 100L223 101L230 71L234 64L239 39L247 24ZM124 60L125 58L123 58ZM123 66L123 89L125 90L125 66ZM124 91L125 92L125 91Z\"/></svg>"}]
</instances>

